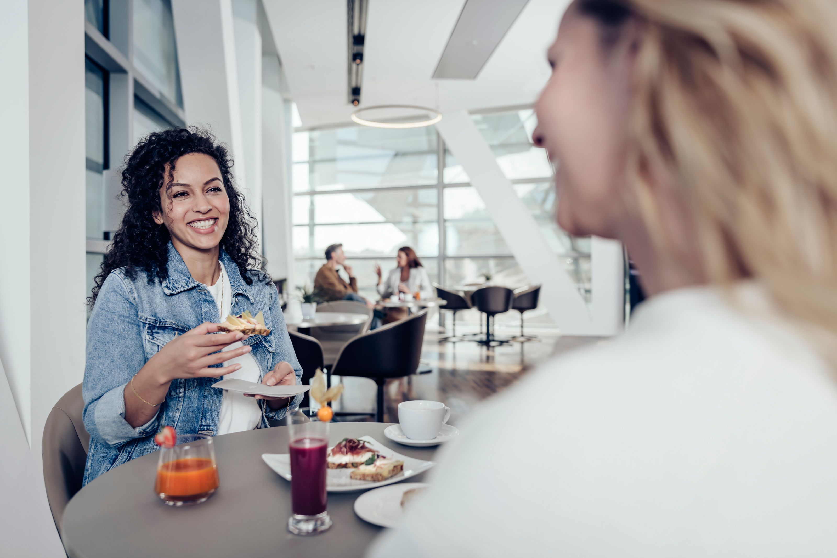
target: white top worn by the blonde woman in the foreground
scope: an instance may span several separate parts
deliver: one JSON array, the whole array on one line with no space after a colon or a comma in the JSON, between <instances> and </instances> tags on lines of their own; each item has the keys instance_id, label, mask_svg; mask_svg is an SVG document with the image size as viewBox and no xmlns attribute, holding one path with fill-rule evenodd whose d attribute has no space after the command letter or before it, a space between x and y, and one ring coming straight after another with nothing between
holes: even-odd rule
<instances>
[{"instance_id":1,"label":"white top worn by the blonde woman in the foreground","mask_svg":"<svg viewBox=\"0 0 837 558\"><path fill-rule=\"evenodd\" d=\"M837 556L837 383L756 285L678 289L490 400L369 556Z\"/></svg>"}]
</instances>

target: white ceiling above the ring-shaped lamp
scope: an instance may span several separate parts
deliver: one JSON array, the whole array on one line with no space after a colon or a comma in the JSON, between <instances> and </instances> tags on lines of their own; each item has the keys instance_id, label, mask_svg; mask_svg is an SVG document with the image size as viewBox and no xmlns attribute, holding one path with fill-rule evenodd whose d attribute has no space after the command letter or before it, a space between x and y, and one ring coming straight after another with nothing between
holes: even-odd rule
<instances>
[{"instance_id":1,"label":"white ceiling above the ring-shaped lamp","mask_svg":"<svg viewBox=\"0 0 837 558\"><path fill-rule=\"evenodd\" d=\"M431 79L465 0L370 0L361 106L530 104L549 78L546 50L569 2L529 0L477 79ZM263 3L302 125L349 122L346 0Z\"/></svg>"}]
</instances>

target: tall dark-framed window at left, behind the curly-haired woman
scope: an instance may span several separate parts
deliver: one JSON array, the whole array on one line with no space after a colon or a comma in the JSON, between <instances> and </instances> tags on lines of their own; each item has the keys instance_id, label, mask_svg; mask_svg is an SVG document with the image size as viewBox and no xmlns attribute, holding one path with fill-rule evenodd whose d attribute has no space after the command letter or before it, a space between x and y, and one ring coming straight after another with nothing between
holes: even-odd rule
<instances>
[{"instance_id":1,"label":"tall dark-framed window at left, behind the curly-haired woman","mask_svg":"<svg viewBox=\"0 0 837 558\"><path fill-rule=\"evenodd\" d=\"M120 206L114 203L119 177L110 161L121 161L148 132L182 125L184 115L179 106L170 0L85 0L85 19L90 23L85 26L85 221L90 289L121 220ZM127 48L131 36L133 49ZM126 82L133 87L126 87Z\"/></svg>"}]
</instances>

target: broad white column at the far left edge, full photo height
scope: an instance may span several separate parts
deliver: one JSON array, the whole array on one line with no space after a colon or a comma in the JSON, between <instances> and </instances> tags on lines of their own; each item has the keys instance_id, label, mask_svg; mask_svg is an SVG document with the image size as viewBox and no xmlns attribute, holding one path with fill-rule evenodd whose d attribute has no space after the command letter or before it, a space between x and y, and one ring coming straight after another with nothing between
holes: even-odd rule
<instances>
[{"instance_id":1,"label":"broad white column at the far left edge, full photo height","mask_svg":"<svg viewBox=\"0 0 837 558\"><path fill-rule=\"evenodd\" d=\"M85 366L84 24L83 3L49 0L8 0L0 18L3 555L64 555L41 437Z\"/></svg>"}]
</instances>

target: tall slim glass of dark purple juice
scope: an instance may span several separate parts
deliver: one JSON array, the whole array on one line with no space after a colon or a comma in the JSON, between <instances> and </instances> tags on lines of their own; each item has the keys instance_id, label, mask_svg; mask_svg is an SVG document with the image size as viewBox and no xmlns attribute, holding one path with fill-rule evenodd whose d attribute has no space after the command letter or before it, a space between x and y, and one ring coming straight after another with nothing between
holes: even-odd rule
<instances>
[{"instance_id":1,"label":"tall slim glass of dark purple juice","mask_svg":"<svg viewBox=\"0 0 837 558\"><path fill-rule=\"evenodd\" d=\"M311 420L303 412L288 417L291 511L288 530L316 535L331 527L326 511L326 451L328 422Z\"/></svg>"}]
</instances>

